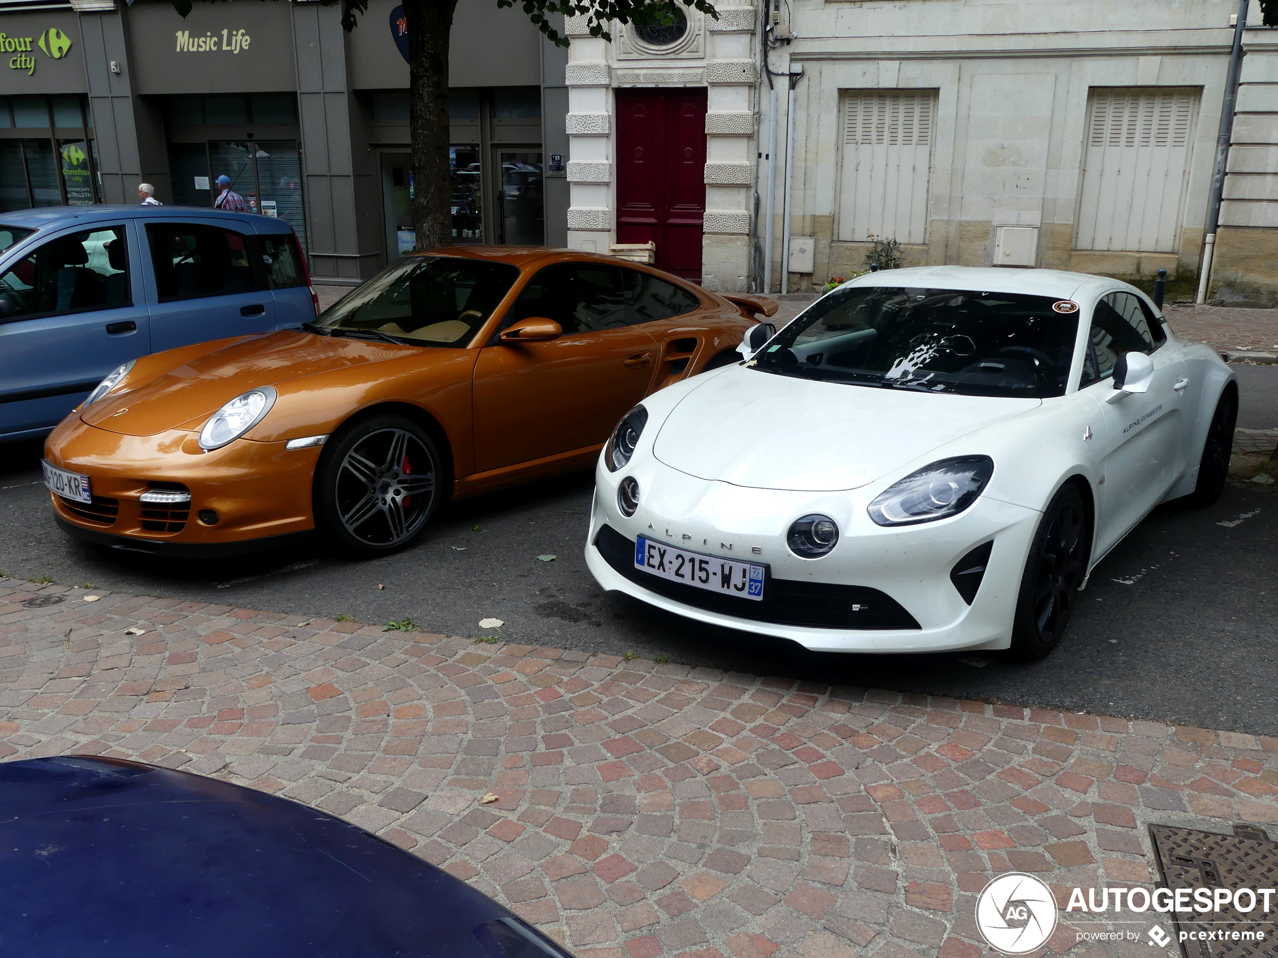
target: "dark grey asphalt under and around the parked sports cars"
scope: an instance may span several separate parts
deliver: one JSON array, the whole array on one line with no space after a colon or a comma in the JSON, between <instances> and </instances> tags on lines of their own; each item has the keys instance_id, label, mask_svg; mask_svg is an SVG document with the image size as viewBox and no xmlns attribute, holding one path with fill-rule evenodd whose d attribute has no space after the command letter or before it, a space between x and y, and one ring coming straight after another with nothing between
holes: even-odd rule
<instances>
[{"instance_id":1,"label":"dark grey asphalt under and around the parked sports cars","mask_svg":"<svg viewBox=\"0 0 1278 958\"><path fill-rule=\"evenodd\" d=\"M1247 428L1278 427L1278 367L1241 367ZM1269 399L1264 399L1268 396ZM0 570L68 585L189 598L754 674L924 691L1278 734L1278 494L1228 487L1205 511L1166 507L1097 568L1047 660L836 657L703 627L604 594L583 547L580 474L458 503L414 548L368 562L314 549L156 561L69 539L38 484L40 446L0 447ZM538 556L555 556L551 562ZM385 589L378 589L378 585ZM500 618L483 630L482 618Z\"/></svg>"}]
</instances>

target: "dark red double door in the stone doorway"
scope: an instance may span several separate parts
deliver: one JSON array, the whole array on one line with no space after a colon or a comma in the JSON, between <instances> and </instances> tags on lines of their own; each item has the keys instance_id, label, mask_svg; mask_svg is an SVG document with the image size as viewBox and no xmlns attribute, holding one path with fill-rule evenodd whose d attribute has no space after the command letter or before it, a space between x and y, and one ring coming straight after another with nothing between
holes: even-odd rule
<instances>
[{"instance_id":1,"label":"dark red double door in the stone doorway","mask_svg":"<svg viewBox=\"0 0 1278 958\"><path fill-rule=\"evenodd\" d=\"M657 244L657 267L700 282L705 89L619 89L617 243Z\"/></svg>"}]
</instances>

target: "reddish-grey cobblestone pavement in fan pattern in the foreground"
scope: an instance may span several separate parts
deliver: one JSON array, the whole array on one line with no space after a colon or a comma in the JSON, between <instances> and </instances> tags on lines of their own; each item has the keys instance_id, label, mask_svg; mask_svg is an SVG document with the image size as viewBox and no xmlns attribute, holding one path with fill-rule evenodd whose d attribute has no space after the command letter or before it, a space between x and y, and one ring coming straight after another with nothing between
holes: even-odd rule
<instances>
[{"instance_id":1,"label":"reddish-grey cobblestone pavement in fan pattern in the foreground","mask_svg":"<svg viewBox=\"0 0 1278 958\"><path fill-rule=\"evenodd\" d=\"M1278 824L1278 738L0 579L0 756L68 752L340 815L581 958L976 958L996 874Z\"/></svg>"}]
</instances>

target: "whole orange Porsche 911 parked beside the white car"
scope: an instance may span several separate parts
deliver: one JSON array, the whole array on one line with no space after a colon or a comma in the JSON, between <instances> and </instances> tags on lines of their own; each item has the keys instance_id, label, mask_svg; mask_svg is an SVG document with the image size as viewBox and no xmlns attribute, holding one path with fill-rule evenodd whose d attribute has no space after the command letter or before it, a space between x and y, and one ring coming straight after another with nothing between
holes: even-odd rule
<instances>
[{"instance_id":1,"label":"whole orange Porsche 911 parked beside the white car","mask_svg":"<svg viewBox=\"0 0 1278 958\"><path fill-rule=\"evenodd\" d=\"M143 356L52 432L58 524L216 557L318 531L355 554L460 499L593 464L640 399L740 359L763 296L567 250L410 255L302 330Z\"/></svg>"}]
</instances>

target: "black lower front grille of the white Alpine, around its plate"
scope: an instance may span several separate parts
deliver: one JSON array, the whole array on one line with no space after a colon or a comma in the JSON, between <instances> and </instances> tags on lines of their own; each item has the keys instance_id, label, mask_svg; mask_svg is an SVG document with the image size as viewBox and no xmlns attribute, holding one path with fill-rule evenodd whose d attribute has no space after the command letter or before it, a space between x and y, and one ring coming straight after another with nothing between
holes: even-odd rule
<instances>
[{"instance_id":1,"label":"black lower front grille of the white Alpine, around its plate","mask_svg":"<svg viewBox=\"0 0 1278 958\"><path fill-rule=\"evenodd\" d=\"M604 562L635 585L707 612L809 628L921 628L891 595L863 585L773 579L768 584L768 598L751 602L640 572L634 566L634 542L610 525L599 528L594 548Z\"/></svg>"}]
</instances>

